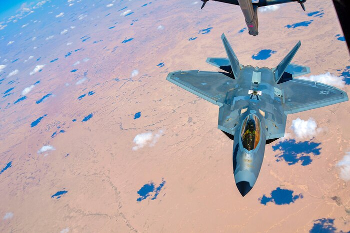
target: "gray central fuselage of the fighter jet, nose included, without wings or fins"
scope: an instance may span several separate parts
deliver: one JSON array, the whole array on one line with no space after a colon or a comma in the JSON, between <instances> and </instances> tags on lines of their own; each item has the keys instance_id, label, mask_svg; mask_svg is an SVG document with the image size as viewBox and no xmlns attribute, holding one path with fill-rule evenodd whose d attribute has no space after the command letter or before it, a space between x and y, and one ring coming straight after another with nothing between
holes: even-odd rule
<instances>
[{"instance_id":1,"label":"gray central fuselage of the fighter jet, nose included, without wings or fins","mask_svg":"<svg viewBox=\"0 0 350 233\"><path fill-rule=\"evenodd\" d=\"M274 82L271 69L244 66L236 82L235 87L227 92L224 104L219 109L219 124L220 121L230 119L232 110L238 110L235 113L236 121L232 122L234 124L232 126L234 128L233 172L238 190L244 196L253 187L260 172L266 134L268 134L266 121L279 119L277 123L285 127L286 115L280 108L282 97L274 91L278 84ZM254 132L257 145L246 149L243 145L247 141L245 139L247 134L244 135L246 133L244 120L249 116L251 118L251 115L257 119Z\"/></svg>"}]
</instances>

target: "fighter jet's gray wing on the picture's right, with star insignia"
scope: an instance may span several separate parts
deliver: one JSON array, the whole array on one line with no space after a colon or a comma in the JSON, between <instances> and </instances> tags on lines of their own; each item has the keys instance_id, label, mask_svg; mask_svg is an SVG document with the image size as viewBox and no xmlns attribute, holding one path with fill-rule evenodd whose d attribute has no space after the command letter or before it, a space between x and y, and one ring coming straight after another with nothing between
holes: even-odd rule
<instances>
[{"instance_id":1,"label":"fighter jet's gray wing on the picture's right, with star insignia","mask_svg":"<svg viewBox=\"0 0 350 233\"><path fill-rule=\"evenodd\" d=\"M280 85L285 114L302 112L348 100L345 91L320 82L292 79Z\"/></svg>"}]
</instances>

